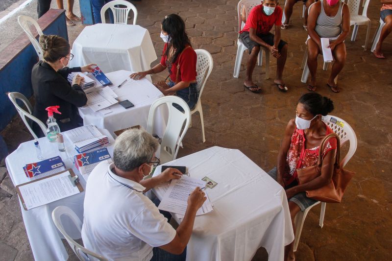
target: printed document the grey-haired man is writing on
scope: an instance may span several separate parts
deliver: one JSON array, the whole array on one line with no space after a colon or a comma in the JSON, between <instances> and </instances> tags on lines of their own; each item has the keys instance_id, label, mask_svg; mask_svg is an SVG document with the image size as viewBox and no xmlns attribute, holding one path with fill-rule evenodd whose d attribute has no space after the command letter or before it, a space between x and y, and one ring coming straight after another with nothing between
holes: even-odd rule
<instances>
[{"instance_id":1,"label":"printed document the grey-haired man is writing on","mask_svg":"<svg viewBox=\"0 0 392 261\"><path fill-rule=\"evenodd\" d=\"M196 189L196 187L204 188L206 182L199 179L194 179L186 176L182 176L180 179L172 180L168 190L162 198L158 209L169 211L178 214L179 218L185 215L188 206L189 194ZM206 214L213 211L210 199L207 196L207 200L203 206L197 210L196 215Z\"/></svg>"}]
</instances>

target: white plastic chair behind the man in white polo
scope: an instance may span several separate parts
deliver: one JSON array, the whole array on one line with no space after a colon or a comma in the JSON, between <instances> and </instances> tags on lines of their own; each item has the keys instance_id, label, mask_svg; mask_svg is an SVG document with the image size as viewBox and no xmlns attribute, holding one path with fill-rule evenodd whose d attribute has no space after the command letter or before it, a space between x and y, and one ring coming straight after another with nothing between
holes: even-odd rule
<instances>
[{"instance_id":1,"label":"white plastic chair behind the man in white polo","mask_svg":"<svg viewBox=\"0 0 392 261\"><path fill-rule=\"evenodd\" d=\"M70 244L73 252L75 255L78 257L79 260L81 261L90 261L90 257L94 257L100 261L107 261L106 258L102 257L101 255L98 255L87 248L79 245L76 243L72 237L70 237L67 232L65 231L63 224L61 222L61 216L65 215L68 216L73 224L76 226L76 228L79 230L81 233L82 231L82 221L80 221L79 217L68 207L66 206L58 206L55 208L52 212L52 219L54 222L54 225L57 227L57 229L63 234L65 239L67 240L68 244Z\"/></svg>"}]
</instances>

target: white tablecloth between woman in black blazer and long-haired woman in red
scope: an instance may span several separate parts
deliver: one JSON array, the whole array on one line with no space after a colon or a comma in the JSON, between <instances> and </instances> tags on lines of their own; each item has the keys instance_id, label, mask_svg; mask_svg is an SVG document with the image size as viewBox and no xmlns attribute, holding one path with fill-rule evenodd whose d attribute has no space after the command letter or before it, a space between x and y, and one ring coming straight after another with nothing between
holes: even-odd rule
<instances>
[{"instance_id":1,"label":"white tablecloth between woman in black blazer and long-haired woman in red","mask_svg":"<svg viewBox=\"0 0 392 261\"><path fill-rule=\"evenodd\" d=\"M130 71L122 70L107 73L106 76L113 82L113 86L118 86L125 79L128 79L120 88L114 88L113 91L119 96L120 100L128 99L135 106L125 109L120 104L115 104L109 107L112 111L109 114L103 114L101 111L94 112L88 107L79 108L83 125L93 124L98 128L107 129L113 137L114 131L135 125L141 125L147 129L148 112L151 104L156 99L163 97L163 94L147 79L133 80L129 78L130 74ZM161 107L156 111L153 133L162 138L166 128L168 110Z\"/></svg>"}]
</instances>

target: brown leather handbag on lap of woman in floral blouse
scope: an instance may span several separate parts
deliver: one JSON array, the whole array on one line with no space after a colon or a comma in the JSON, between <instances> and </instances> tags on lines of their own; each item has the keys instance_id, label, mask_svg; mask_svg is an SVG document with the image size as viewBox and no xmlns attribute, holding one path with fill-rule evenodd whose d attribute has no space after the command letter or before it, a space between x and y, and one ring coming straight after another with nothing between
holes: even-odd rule
<instances>
[{"instance_id":1,"label":"brown leather handbag on lap of woman in floral blouse","mask_svg":"<svg viewBox=\"0 0 392 261\"><path fill-rule=\"evenodd\" d=\"M298 168L297 175L298 175L299 184L307 183L321 175L321 166L322 166L321 154L322 151L324 150L324 145L326 141L331 137L335 137L337 141L336 159L335 159L334 171L332 174L332 180L328 185L325 185L324 187L321 187L316 190L306 191L306 196L311 199L326 202L326 203L341 203L344 190L346 189L351 178L354 176L355 172L343 168L340 164L340 139L337 134L331 133L325 136L324 140L322 140L319 147L319 160L317 164L314 166Z\"/></svg>"}]
</instances>

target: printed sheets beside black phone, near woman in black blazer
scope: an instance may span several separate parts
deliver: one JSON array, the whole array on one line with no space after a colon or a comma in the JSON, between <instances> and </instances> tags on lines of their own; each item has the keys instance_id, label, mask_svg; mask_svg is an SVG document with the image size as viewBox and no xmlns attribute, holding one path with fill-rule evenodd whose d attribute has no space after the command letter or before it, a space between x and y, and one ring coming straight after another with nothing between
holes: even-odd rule
<instances>
[{"instance_id":1,"label":"printed sheets beside black phone, near woman in black blazer","mask_svg":"<svg viewBox=\"0 0 392 261\"><path fill-rule=\"evenodd\" d=\"M110 87L99 89L97 92L87 94L87 105L95 112L118 103L118 96Z\"/></svg>"}]
</instances>

